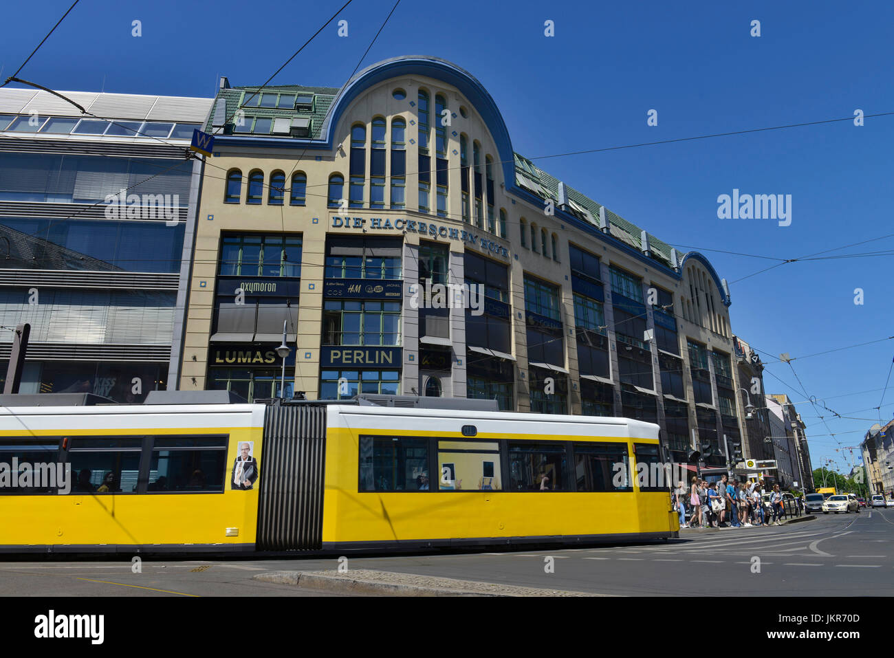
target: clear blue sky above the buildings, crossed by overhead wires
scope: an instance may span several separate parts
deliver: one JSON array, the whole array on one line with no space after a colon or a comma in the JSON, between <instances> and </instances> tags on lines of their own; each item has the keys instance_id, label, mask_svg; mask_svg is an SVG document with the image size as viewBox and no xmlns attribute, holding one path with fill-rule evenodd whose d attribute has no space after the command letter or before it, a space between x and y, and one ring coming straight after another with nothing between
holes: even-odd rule
<instances>
[{"instance_id":1,"label":"clear blue sky above the buildings, crossed by overhead wires","mask_svg":"<svg viewBox=\"0 0 894 658\"><path fill-rule=\"evenodd\" d=\"M3 78L69 4L4 9ZM341 4L85 1L20 75L51 89L105 84L105 91L211 96L220 75L234 85L266 80ZM339 16L349 36L339 38L333 22L273 83L342 85L392 4L354 0ZM420 54L459 64L490 91L513 147L532 157L821 121L857 108L894 111L892 5L780 4L403 0L363 66ZM131 36L134 20L140 38ZM547 20L552 38L544 37ZM753 20L761 21L759 38L750 36ZM650 109L657 126L646 125ZM706 249L795 258L894 233L885 219L892 136L889 116L863 127L838 122L536 163L662 240L705 249L730 281L735 333L765 353L797 358L894 333L884 274L890 257L792 263L734 283L773 261ZM790 194L791 225L718 219L718 195L734 188ZM831 253L892 248L887 238ZM863 305L854 303L856 288ZM878 421L871 408L880 404L892 357L894 341L885 341L792 362L809 395L856 417L828 420L842 445L858 445ZM805 401L789 366L767 354L764 361L768 392ZM814 467L834 459L844 468L848 452L835 452L838 443L809 403L798 409ZM885 393L881 418L892 412L894 390Z\"/></svg>"}]
</instances>

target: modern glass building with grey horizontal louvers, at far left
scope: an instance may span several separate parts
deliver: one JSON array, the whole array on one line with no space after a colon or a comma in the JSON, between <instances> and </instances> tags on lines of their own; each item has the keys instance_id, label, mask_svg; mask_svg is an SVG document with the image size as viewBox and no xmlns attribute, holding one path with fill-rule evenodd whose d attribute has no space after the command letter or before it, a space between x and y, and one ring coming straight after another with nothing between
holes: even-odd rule
<instances>
[{"instance_id":1,"label":"modern glass building with grey horizontal louvers, at far left","mask_svg":"<svg viewBox=\"0 0 894 658\"><path fill-rule=\"evenodd\" d=\"M142 401L181 363L211 98L0 89L0 325L30 323L21 392ZM13 333L0 331L0 378Z\"/></svg>"}]
</instances>

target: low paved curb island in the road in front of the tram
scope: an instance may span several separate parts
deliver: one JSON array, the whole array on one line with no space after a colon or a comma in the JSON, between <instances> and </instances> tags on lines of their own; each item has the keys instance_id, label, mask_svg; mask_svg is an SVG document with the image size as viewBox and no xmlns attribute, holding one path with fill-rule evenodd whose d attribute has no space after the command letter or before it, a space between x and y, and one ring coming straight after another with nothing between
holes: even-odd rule
<instances>
[{"instance_id":1,"label":"low paved curb island in the road in front of the tram","mask_svg":"<svg viewBox=\"0 0 894 658\"><path fill-rule=\"evenodd\" d=\"M252 577L267 583L299 586L335 595L378 596L605 596L586 592L499 585L417 574L351 569L344 574L325 571L269 571Z\"/></svg>"}]
</instances>

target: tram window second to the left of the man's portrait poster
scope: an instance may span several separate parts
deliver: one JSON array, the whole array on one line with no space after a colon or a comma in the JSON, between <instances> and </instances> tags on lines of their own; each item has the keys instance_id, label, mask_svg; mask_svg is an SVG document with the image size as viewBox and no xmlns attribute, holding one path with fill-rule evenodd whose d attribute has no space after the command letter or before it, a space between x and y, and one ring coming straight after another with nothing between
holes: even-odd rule
<instances>
[{"instance_id":1,"label":"tram window second to the left of the man's portrait poster","mask_svg":"<svg viewBox=\"0 0 894 658\"><path fill-rule=\"evenodd\" d=\"M119 442L123 444L119 450L85 450L85 443L106 447L109 443ZM138 447L130 450L124 447L131 442L137 443ZM140 439L73 440L68 454L74 480L72 493L135 493L139 477L140 443Z\"/></svg>"}]
</instances>

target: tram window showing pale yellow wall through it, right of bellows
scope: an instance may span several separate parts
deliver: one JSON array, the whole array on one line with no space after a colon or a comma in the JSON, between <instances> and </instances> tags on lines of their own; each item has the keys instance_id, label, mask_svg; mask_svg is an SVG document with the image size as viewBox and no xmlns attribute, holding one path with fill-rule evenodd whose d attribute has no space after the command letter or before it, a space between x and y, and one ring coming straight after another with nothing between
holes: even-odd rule
<instances>
[{"instance_id":1,"label":"tram window showing pale yellow wall through it, right of bellows","mask_svg":"<svg viewBox=\"0 0 894 658\"><path fill-rule=\"evenodd\" d=\"M502 489L499 443L439 441L438 468L440 491Z\"/></svg>"}]
</instances>

